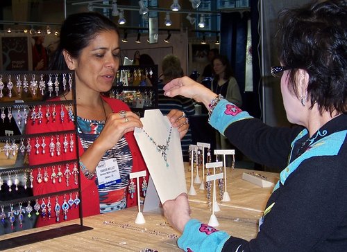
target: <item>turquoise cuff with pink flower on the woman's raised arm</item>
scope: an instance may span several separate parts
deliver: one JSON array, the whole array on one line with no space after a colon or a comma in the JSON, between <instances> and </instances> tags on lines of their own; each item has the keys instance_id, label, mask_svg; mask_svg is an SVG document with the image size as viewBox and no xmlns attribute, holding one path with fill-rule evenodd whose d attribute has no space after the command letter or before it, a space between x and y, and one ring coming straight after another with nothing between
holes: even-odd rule
<instances>
[{"instance_id":1,"label":"turquoise cuff with pink flower on the woman's raised arm","mask_svg":"<svg viewBox=\"0 0 347 252\"><path fill-rule=\"evenodd\" d=\"M210 125L217 129L224 135L226 128L237 122L238 120L244 120L253 118L246 111L242 111L239 107L234 105L228 100L220 100L217 106L213 109L210 118Z\"/></svg>"}]
</instances>

